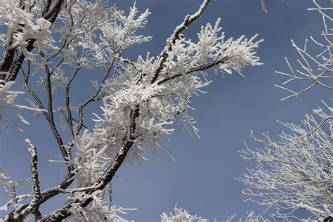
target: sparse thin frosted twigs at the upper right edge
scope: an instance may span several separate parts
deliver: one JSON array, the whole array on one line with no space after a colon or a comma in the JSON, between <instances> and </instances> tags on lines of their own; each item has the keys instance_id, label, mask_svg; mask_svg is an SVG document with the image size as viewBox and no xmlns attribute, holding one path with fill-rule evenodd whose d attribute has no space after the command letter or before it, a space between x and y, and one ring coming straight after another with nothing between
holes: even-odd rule
<instances>
[{"instance_id":1,"label":"sparse thin frosted twigs at the upper right edge","mask_svg":"<svg viewBox=\"0 0 333 222\"><path fill-rule=\"evenodd\" d=\"M301 70L294 70L289 60L285 58L290 72L277 72L287 77L287 81L282 85L276 85L281 89L284 89L291 93L289 96L282 98L285 100L291 97L298 97L302 93L312 89L314 86L322 86L325 89L333 89L333 55L332 55L332 10L333 8L322 8L315 0L313 0L316 8L309 8L309 11L318 11L322 15L322 22L324 30L320 34L322 40L317 40L315 37L310 37L312 43L317 46L319 53L313 55L313 50L309 51L308 39L306 39L303 46L298 46L292 40L292 46L296 49L301 59L297 60ZM319 38L319 37L318 37ZM303 82L304 87L301 91L294 91L290 87L284 86L297 80Z\"/></svg>"}]
</instances>

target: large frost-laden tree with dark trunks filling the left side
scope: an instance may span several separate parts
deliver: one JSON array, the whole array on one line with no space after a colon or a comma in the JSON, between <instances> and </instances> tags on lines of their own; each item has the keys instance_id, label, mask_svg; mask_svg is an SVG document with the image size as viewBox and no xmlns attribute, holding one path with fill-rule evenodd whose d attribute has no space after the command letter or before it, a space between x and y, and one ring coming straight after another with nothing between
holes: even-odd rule
<instances>
[{"instance_id":1,"label":"large frost-laden tree with dark trunks filling the left side","mask_svg":"<svg viewBox=\"0 0 333 222\"><path fill-rule=\"evenodd\" d=\"M140 161L146 150L159 150L164 136L174 131L176 117L197 130L187 109L193 94L209 84L206 70L241 74L244 66L261 65L254 51L261 42L257 35L226 39L220 19L202 27L197 41L186 39L183 30L200 18L210 2L204 0L195 13L185 16L156 58L147 53L131 61L122 57L123 52L151 39L137 34L150 11L138 14L135 4L127 15L106 1L0 1L0 22L7 27L1 38L0 100L15 112L29 108L44 115L67 168L62 183L41 190L38 148L27 139L32 194L18 196L18 184L1 173L1 185L10 195L1 209L13 207L3 221L25 221L29 214L39 221L124 221L116 213L126 209L112 206L110 182L125 159ZM103 76L93 83L96 91L74 105L71 87L84 70ZM34 100L30 106L18 105L15 98L20 93L9 90L19 73L22 90ZM43 95L35 90L33 76L39 77ZM55 91L65 95L60 107L54 101L61 93ZM12 99L6 100L9 94ZM88 105L101 105L102 115L87 118ZM69 141L59 133L59 115ZM59 194L67 195L67 202L43 218L39 207Z\"/></svg>"}]
</instances>

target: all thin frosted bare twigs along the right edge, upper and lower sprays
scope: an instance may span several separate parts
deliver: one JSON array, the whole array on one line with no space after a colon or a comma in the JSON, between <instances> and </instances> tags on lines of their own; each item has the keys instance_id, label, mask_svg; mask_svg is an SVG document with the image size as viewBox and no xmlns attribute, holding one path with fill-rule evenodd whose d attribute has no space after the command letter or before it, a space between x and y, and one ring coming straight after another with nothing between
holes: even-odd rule
<instances>
[{"instance_id":1,"label":"all thin frosted bare twigs along the right edge, upper and lower sprays","mask_svg":"<svg viewBox=\"0 0 333 222\"><path fill-rule=\"evenodd\" d=\"M301 69L294 70L286 58L290 72L278 72L288 77L281 89L291 93L283 98L297 97L315 86L333 89L332 57L332 11L322 8L313 0L314 8L322 15L324 30L318 40L311 36L311 41L318 46L318 55L308 50L308 40L304 46L292 46L300 55L297 60ZM291 81L306 83L301 91L294 91L287 86ZM275 141L268 133L263 138L253 138L263 145L262 148L244 148L244 159L254 159L254 169L248 169L240 181L248 188L243 191L252 200L268 208L274 207L275 216L291 220L294 211L306 209L308 219L329 221L333 216L333 108L322 102L325 107L313 110L314 115L306 115L303 126L283 124L290 133L282 133ZM299 218L305 219L305 218Z\"/></svg>"}]
</instances>

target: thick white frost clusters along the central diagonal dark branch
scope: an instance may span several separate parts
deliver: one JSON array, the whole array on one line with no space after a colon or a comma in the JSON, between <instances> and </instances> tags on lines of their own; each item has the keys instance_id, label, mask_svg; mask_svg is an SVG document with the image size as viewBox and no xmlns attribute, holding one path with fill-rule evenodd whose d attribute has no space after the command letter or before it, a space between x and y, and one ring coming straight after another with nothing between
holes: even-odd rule
<instances>
[{"instance_id":1,"label":"thick white frost clusters along the central diagonal dark branch","mask_svg":"<svg viewBox=\"0 0 333 222\"><path fill-rule=\"evenodd\" d=\"M174 33L179 38L171 40L170 48L166 47L163 63L150 53L131 64L119 60L121 65L115 75L105 79L100 90L102 115L93 119L95 126L91 131L84 131L74 140L74 188L59 192L77 196L104 189L100 192L110 195L107 183L124 159L130 163L145 161L147 150L158 152L164 137L173 133L176 118L197 133L195 120L186 111L190 108L190 98L202 93L202 88L209 84L206 70L212 67L241 74L247 65L261 65L255 49L262 40L256 41L257 35L250 39L244 36L226 39L219 23L218 19L214 26L202 27L197 43L180 37L177 31L180 27L176 27ZM159 70L156 81L152 81L156 70ZM76 202L80 206L86 204L76 197L48 218L70 214Z\"/></svg>"}]
</instances>

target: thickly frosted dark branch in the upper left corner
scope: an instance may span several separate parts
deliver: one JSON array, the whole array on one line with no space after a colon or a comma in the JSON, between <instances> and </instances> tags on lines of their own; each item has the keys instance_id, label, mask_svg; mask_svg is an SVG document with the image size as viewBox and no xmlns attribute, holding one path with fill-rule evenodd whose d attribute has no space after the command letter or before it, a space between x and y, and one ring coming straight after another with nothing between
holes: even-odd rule
<instances>
[{"instance_id":1,"label":"thickly frosted dark branch in the upper left corner","mask_svg":"<svg viewBox=\"0 0 333 222\"><path fill-rule=\"evenodd\" d=\"M53 4L47 1L44 5L42 2L28 3L21 5L20 0L1 1L1 25L8 27L6 34L7 39L3 42L4 53L0 62L0 71L9 72L1 74L0 79L5 78L8 81L14 81L22 66L25 58L32 58L30 51L34 46L44 51L44 47L49 47L52 43L48 27L55 21L63 4L63 0L54 1ZM41 14L42 17L34 15ZM51 44L52 46L53 44ZM15 57L16 48L20 46L18 56Z\"/></svg>"}]
</instances>

